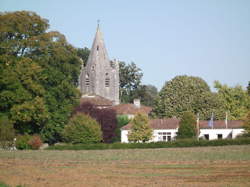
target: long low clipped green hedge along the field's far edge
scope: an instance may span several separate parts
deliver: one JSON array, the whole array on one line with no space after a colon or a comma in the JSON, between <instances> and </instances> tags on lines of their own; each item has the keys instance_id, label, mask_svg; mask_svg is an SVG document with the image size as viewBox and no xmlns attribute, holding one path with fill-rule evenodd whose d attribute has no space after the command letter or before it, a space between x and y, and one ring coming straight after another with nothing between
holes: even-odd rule
<instances>
[{"instance_id":1,"label":"long low clipped green hedge along the field's far edge","mask_svg":"<svg viewBox=\"0 0 250 187\"><path fill-rule=\"evenodd\" d=\"M250 144L250 138L222 139L222 140L194 140L180 139L171 142L155 143L113 143L113 144L66 144L54 145L46 150L104 150L104 149L152 149L152 148L174 148L174 147L204 147L224 145L246 145Z\"/></svg>"}]
</instances>

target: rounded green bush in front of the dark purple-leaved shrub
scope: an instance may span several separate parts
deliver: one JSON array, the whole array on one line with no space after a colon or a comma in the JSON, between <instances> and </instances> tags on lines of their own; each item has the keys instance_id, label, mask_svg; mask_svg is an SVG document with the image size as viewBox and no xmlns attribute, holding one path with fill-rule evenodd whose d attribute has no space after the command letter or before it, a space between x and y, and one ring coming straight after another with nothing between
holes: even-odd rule
<instances>
[{"instance_id":1,"label":"rounded green bush in front of the dark purple-leaved shrub","mask_svg":"<svg viewBox=\"0 0 250 187\"><path fill-rule=\"evenodd\" d=\"M98 143L102 140L100 125L89 115L76 114L65 126L63 136L66 142L77 143Z\"/></svg>"}]
</instances>

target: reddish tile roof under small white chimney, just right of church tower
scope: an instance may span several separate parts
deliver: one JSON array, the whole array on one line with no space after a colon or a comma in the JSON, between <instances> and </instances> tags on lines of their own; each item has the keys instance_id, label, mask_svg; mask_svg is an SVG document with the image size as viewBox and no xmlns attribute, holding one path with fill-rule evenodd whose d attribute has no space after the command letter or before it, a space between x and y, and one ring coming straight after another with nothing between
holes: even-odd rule
<instances>
[{"instance_id":1,"label":"reddish tile roof under small white chimney, just right of church tower","mask_svg":"<svg viewBox=\"0 0 250 187\"><path fill-rule=\"evenodd\" d=\"M123 115L123 114L149 114L151 112L152 108L148 106L141 105L140 107L136 107L134 104L119 104L112 107L117 114Z\"/></svg>"}]
</instances>

